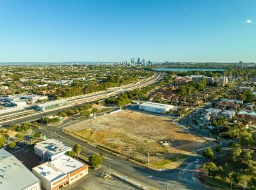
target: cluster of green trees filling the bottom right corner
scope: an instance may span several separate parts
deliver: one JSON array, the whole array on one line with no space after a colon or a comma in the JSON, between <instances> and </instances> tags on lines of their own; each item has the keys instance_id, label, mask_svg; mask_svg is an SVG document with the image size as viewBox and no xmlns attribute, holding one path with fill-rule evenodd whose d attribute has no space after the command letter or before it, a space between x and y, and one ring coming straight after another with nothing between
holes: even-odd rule
<instances>
[{"instance_id":1,"label":"cluster of green trees filling the bottom right corner","mask_svg":"<svg viewBox=\"0 0 256 190\"><path fill-rule=\"evenodd\" d=\"M256 161L255 152L253 147L256 146L256 139L252 137L250 132L240 132L240 139L238 143L229 143L231 151L227 152L227 155L222 157L221 146L215 148L217 155L211 148L205 149L203 156L210 162L203 165L203 168L207 170L209 177L221 179L222 181L233 182L238 185L241 180L248 180L248 186L252 189L256 189Z\"/></svg>"}]
</instances>

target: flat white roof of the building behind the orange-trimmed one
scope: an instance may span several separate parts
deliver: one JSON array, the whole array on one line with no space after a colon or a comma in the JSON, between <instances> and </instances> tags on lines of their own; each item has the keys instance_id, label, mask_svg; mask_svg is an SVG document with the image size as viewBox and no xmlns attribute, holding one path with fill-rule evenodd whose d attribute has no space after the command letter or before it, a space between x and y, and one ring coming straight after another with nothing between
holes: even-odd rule
<instances>
[{"instance_id":1,"label":"flat white roof of the building behind the orange-trimmed one","mask_svg":"<svg viewBox=\"0 0 256 190\"><path fill-rule=\"evenodd\" d=\"M69 146L66 146L58 139L47 139L46 141L41 141L35 145L35 148L41 149L42 151L47 150L51 155L55 155L62 151L68 151L70 149Z\"/></svg>"}]
</instances>

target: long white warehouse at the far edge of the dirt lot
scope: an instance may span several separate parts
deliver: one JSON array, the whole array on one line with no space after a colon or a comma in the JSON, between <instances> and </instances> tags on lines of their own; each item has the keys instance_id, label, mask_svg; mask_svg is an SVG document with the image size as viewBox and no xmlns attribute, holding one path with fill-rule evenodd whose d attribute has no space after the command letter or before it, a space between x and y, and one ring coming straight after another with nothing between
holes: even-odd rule
<instances>
[{"instance_id":1,"label":"long white warehouse at the far edge of the dirt lot","mask_svg":"<svg viewBox=\"0 0 256 190\"><path fill-rule=\"evenodd\" d=\"M174 108L174 106L172 105L163 105L163 104L158 104L153 102L146 102L139 105L139 110L151 111L155 113L166 113L172 108Z\"/></svg>"}]
</instances>

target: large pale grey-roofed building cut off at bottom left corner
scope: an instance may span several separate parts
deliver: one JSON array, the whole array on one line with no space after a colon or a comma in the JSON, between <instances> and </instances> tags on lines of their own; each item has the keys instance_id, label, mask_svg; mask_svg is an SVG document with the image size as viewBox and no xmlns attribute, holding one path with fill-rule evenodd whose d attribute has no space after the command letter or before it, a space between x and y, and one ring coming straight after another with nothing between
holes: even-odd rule
<instances>
[{"instance_id":1,"label":"large pale grey-roofed building cut off at bottom left corner","mask_svg":"<svg viewBox=\"0 0 256 190\"><path fill-rule=\"evenodd\" d=\"M40 180L15 156L0 149L0 189L40 190Z\"/></svg>"}]
</instances>

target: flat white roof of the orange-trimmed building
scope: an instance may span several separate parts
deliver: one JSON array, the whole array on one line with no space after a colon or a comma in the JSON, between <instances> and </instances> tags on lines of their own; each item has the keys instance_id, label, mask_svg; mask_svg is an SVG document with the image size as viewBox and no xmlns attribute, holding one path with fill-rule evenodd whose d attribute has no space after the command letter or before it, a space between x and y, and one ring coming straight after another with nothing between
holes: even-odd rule
<instances>
[{"instance_id":1,"label":"flat white roof of the orange-trimmed building","mask_svg":"<svg viewBox=\"0 0 256 190\"><path fill-rule=\"evenodd\" d=\"M70 156L62 155L51 162L42 163L41 165L34 167L33 170L47 181L53 182L84 165L84 163L81 163Z\"/></svg>"}]
</instances>

